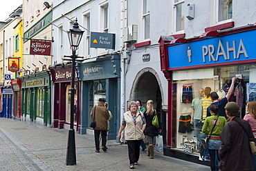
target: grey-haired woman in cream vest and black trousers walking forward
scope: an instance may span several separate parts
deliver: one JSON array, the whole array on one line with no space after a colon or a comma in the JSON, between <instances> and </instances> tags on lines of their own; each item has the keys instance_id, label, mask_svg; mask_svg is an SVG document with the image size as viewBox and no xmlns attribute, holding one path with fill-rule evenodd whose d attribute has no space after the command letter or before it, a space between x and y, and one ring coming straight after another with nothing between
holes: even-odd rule
<instances>
[{"instance_id":1,"label":"grey-haired woman in cream vest and black trousers walking forward","mask_svg":"<svg viewBox=\"0 0 256 171\"><path fill-rule=\"evenodd\" d=\"M125 112L122 124L118 132L118 138L121 138L122 130L125 129L125 140L128 145L130 169L138 165L140 157L140 141L145 137L143 131L146 127L145 117L138 111L136 101L131 101L129 111Z\"/></svg>"}]
</instances>

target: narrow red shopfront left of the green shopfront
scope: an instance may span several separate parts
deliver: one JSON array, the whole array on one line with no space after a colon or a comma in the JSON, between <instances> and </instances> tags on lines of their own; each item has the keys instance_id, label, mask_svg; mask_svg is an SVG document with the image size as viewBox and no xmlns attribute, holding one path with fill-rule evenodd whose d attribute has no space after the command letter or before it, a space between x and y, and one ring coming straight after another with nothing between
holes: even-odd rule
<instances>
[{"instance_id":1,"label":"narrow red shopfront left of the green shopfront","mask_svg":"<svg viewBox=\"0 0 256 171\"><path fill-rule=\"evenodd\" d=\"M21 81L11 81L13 89L13 116L21 118Z\"/></svg>"}]
</instances>

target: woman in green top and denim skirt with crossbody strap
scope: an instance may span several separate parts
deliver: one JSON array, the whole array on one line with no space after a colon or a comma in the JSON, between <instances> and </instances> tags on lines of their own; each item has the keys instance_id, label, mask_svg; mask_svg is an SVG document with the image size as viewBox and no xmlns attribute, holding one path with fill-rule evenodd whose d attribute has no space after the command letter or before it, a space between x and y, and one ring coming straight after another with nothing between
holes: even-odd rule
<instances>
[{"instance_id":1,"label":"woman in green top and denim skirt with crossbody strap","mask_svg":"<svg viewBox=\"0 0 256 171\"><path fill-rule=\"evenodd\" d=\"M208 135L210 134L210 139L208 141L210 168L212 171L215 171L219 170L216 167L217 165L215 165L215 156L217 154L218 157L218 150L221 146L221 137L219 137L219 134L221 134L221 131L226 124L226 118L219 117L219 108L217 105L210 105L210 114L212 114L212 116L207 117L205 123L203 123L202 132Z\"/></svg>"}]
</instances>

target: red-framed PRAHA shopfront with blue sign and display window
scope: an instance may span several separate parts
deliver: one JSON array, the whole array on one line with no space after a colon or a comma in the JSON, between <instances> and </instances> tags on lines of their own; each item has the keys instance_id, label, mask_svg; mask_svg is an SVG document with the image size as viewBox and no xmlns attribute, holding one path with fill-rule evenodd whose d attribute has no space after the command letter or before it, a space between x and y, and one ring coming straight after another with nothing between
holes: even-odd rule
<instances>
[{"instance_id":1,"label":"red-framed PRAHA shopfront with blue sign and display window","mask_svg":"<svg viewBox=\"0 0 256 171\"><path fill-rule=\"evenodd\" d=\"M201 163L198 145L187 141L198 138L199 133L196 129L188 128L184 132L179 129L181 117L189 118L192 99L199 96L201 88L217 93L223 91L225 96L232 77L238 77L235 88L242 89L238 95L243 99L240 117L244 117L246 103L256 101L255 37L256 27L244 26L205 32L191 39L160 38L161 70L168 81L169 94L165 155ZM184 87L190 88L185 100ZM237 102L237 99L234 95L230 101Z\"/></svg>"}]
</instances>

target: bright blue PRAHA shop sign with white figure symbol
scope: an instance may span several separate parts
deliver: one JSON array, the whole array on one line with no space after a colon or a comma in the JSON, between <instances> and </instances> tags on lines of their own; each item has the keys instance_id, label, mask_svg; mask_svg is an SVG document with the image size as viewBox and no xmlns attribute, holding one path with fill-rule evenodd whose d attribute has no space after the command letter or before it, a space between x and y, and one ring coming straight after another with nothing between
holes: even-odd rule
<instances>
[{"instance_id":1,"label":"bright blue PRAHA shop sign with white figure symbol","mask_svg":"<svg viewBox=\"0 0 256 171\"><path fill-rule=\"evenodd\" d=\"M168 47L169 68L193 68L256 59L256 30Z\"/></svg>"}]
</instances>

